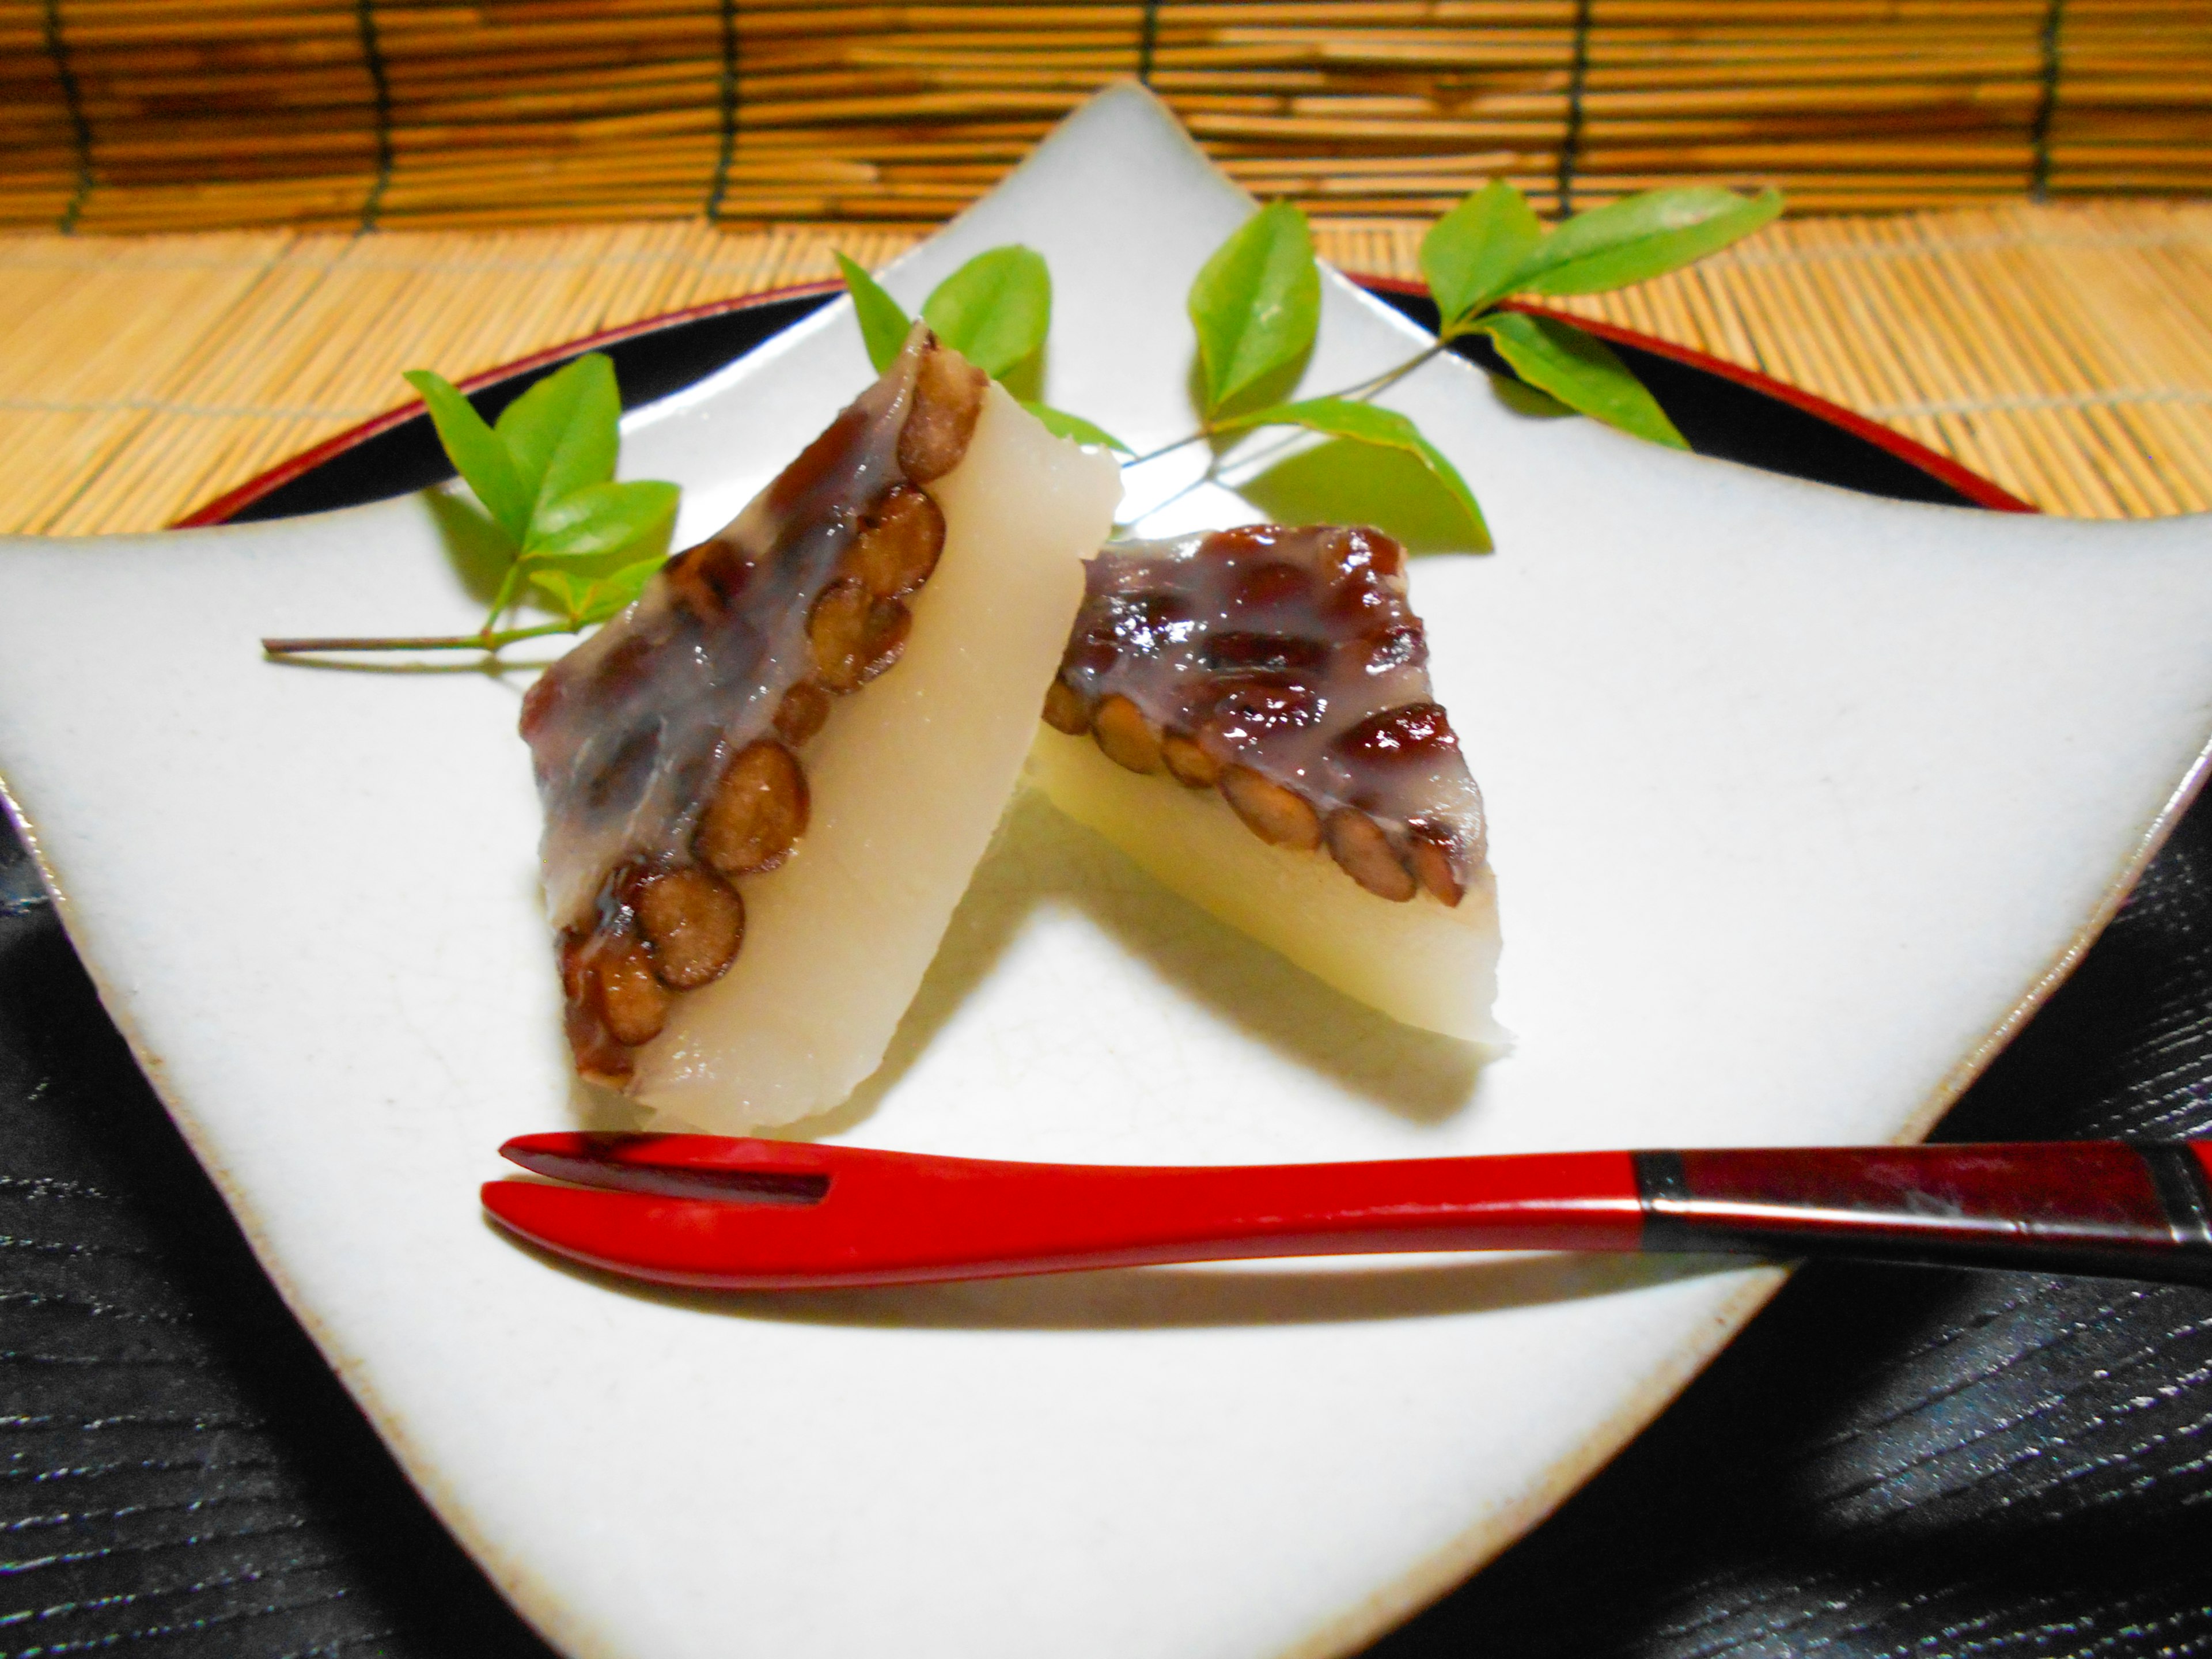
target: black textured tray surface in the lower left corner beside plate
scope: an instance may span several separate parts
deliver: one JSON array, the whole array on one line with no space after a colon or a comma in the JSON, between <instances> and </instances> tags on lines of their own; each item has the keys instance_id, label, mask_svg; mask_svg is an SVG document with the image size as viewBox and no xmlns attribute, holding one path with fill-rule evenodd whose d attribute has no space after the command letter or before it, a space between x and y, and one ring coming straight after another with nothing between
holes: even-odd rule
<instances>
[{"instance_id":1,"label":"black textured tray surface in the lower left corner beside plate","mask_svg":"<svg viewBox=\"0 0 2212 1659\"><path fill-rule=\"evenodd\" d=\"M549 1659L146 1088L0 818L0 1655Z\"/></svg>"}]
</instances>

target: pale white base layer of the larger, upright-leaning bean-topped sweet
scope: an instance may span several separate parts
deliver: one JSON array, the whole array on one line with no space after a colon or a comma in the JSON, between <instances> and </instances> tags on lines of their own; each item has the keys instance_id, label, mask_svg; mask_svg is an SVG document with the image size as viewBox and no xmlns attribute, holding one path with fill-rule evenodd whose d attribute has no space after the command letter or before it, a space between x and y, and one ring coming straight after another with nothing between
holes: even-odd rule
<instances>
[{"instance_id":1,"label":"pale white base layer of the larger, upright-leaning bean-topped sweet","mask_svg":"<svg viewBox=\"0 0 2212 1659\"><path fill-rule=\"evenodd\" d=\"M799 849L741 885L737 962L637 1055L630 1093L666 1119L792 1124L876 1071L1020 781L1121 471L993 385L929 493L945 553L905 655L807 743Z\"/></svg>"}]
</instances>

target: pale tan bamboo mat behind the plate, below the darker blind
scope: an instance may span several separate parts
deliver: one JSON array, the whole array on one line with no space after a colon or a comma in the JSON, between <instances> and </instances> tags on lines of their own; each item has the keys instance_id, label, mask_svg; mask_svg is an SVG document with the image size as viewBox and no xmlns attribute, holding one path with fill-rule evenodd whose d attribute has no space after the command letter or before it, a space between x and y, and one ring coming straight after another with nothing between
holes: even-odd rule
<instances>
[{"instance_id":1,"label":"pale tan bamboo mat behind the plate, below the darker blind","mask_svg":"<svg viewBox=\"0 0 2212 1659\"><path fill-rule=\"evenodd\" d=\"M1420 226L1318 223L1413 274ZM166 524L451 376L880 263L920 228L0 237L0 529ZM1887 420L2057 513L2212 509L2212 206L1792 219L1577 310Z\"/></svg>"}]
</instances>

